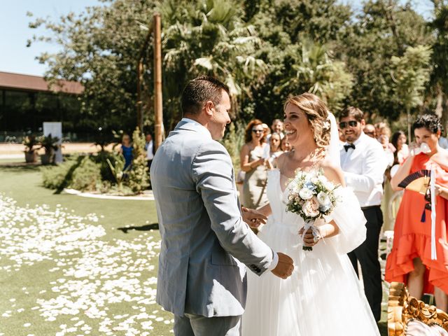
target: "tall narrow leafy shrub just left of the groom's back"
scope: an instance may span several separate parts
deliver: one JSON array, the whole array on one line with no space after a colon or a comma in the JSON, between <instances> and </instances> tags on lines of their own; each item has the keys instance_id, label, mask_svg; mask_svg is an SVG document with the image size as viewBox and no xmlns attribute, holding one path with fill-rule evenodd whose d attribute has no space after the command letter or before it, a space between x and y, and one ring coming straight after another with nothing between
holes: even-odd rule
<instances>
[{"instance_id":1,"label":"tall narrow leafy shrub just left of the groom's back","mask_svg":"<svg viewBox=\"0 0 448 336\"><path fill-rule=\"evenodd\" d=\"M127 185L131 190L138 194L149 186L148 162L146 161L145 138L137 128L132 134L132 146L134 159L129 172Z\"/></svg>"}]
</instances>

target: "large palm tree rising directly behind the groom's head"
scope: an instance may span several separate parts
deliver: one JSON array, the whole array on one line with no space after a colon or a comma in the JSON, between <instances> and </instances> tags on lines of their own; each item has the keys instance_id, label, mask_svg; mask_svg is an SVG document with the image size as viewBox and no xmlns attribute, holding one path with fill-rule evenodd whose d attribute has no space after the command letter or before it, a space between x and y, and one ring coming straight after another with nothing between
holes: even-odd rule
<instances>
[{"instance_id":1,"label":"large palm tree rising directly behind the groom's head","mask_svg":"<svg viewBox=\"0 0 448 336\"><path fill-rule=\"evenodd\" d=\"M161 4L160 11L165 22L165 97L179 104L186 82L207 74L228 85L232 110L237 114L241 95L251 97L251 88L267 71L265 62L253 56L261 41L253 26L241 20L239 3L169 0ZM172 118L176 118L173 112Z\"/></svg>"}]
</instances>

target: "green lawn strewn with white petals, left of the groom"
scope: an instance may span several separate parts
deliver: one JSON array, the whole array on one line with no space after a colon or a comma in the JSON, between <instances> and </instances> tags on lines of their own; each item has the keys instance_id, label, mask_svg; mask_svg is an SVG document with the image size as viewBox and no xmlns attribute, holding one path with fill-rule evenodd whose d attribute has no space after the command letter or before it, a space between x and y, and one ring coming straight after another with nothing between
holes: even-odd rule
<instances>
[{"instance_id":1,"label":"green lawn strewn with white petals, left of the groom","mask_svg":"<svg viewBox=\"0 0 448 336\"><path fill-rule=\"evenodd\" d=\"M0 335L172 335L157 229L151 201L55 195L38 167L0 167Z\"/></svg>"}]
</instances>

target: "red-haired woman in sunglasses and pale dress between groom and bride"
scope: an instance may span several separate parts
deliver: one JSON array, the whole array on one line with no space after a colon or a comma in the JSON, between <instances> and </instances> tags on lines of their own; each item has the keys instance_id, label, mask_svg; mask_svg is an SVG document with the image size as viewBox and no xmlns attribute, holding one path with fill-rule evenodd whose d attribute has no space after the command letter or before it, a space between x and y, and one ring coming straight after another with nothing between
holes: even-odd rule
<instances>
[{"instance_id":1,"label":"red-haired woman in sunglasses and pale dress between groom and bride","mask_svg":"<svg viewBox=\"0 0 448 336\"><path fill-rule=\"evenodd\" d=\"M251 120L246 127L245 141L241 147L241 170L246 172L243 183L242 203L244 207L257 209L267 203L265 168L265 130L258 119Z\"/></svg>"}]
</instances>

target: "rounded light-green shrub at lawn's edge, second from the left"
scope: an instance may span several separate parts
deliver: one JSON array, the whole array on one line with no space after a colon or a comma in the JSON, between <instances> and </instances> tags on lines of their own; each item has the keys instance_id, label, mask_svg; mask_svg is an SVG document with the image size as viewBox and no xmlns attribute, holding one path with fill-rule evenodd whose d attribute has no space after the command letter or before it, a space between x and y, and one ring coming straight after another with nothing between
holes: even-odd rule
<instances>
[{"instance_id":1,"label":"rounded light-green shrub at lawn's edge, second from the left","mask_svg":"<svg viewBox=\"0 0 448 336\"><path fill-rule=\"evenodd\" d=\"M76 190L94 191L97 190L97 185L101 182L99 165L90 160L89 157L85 157L73 172L70 186Z\"/></svg>"}]
</instances>

